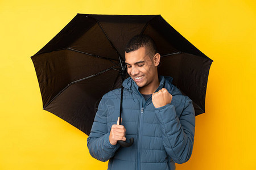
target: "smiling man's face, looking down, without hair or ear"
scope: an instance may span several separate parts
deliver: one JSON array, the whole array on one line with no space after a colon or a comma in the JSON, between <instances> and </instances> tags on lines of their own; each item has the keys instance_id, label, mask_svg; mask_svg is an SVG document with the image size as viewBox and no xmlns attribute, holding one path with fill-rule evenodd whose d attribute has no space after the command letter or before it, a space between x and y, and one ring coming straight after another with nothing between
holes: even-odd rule
<instances>
[{"instance_id":1,"label":"smiling man's face, looking down, without hair or ear","mask_svg":"<svg viewBox=\"0 0 256 170\"><path fill-rule=\"evenodd\" d=\"M154 62L144 47L125 53L125 62L127 73L139 87L150 86L158 74Z\"/></svg>"}]
</instances>

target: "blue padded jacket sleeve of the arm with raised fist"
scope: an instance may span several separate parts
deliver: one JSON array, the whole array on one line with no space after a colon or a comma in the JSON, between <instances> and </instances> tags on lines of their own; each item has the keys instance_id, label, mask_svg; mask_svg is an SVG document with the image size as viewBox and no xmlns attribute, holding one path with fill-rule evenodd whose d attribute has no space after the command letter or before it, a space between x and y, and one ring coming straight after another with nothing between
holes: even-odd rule
<instances>
[{"instance_id":1,"label":"blue padded jacket sleeve of the arm with raised fist","mask_svg":"<svg viewBox=\"0 0 256 170\"><path fill-rule=\"evenodd\" d=\"M164 148L174 162L179 164L189 160L195 134L195 110L192 100L186 96L180 104L182 111L179 117L172 103L159 105L160 107L155 109L162 130Z\"/></svg>"}]
</instances>

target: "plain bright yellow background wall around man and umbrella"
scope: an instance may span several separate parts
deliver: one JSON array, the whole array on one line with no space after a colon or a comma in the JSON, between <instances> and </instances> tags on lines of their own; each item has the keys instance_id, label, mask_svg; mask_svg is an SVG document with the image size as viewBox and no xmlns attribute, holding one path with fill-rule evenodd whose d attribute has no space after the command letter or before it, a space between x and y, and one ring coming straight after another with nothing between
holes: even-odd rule
<instances>
[{"instance_id":1,"label":"plain bright yellow background wall around man and umbrella","mask_svg":"<svg viewBox=\"0 0 256 170\"><path fill-rule=\"evenodd\" d=\"M161 14L213 59L191 159L176 169L256 169L255 1L0 1L0 169L106 169L87 135L43 111L30 56L77 13Z\"/></svg>"}]
</instances>

